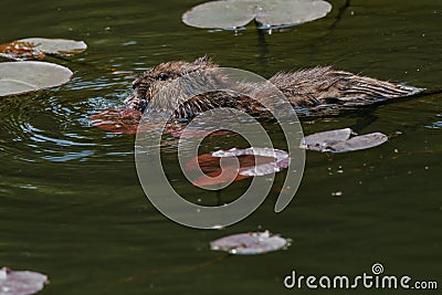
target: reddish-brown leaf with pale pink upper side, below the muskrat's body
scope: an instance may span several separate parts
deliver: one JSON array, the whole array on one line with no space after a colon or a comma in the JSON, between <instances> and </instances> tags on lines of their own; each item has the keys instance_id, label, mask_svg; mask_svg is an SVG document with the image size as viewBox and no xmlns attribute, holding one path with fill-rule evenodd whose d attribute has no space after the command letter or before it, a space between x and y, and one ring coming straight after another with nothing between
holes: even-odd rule
<instances>
[{"instance_id":1,"label":"reddish-brown leaf with pale pink upper side, below the muskrat's body","mask_svg":"<svg viewBox=\"0 0 442 295\"><path fill-rule=\"evenodd\" d=\"M221 158L236 158L239 168L235 165L224 166L221 169ZM288 167L288 154L284 150L272 148L232 148L229 150L218 150L213 154L200 155L190 159L185 169L196 170L198 167L206 176L192 181L193 186L214 186L230 181L245 179L253 176L264 176L281 171ZM221 176L222 177L219 177Z\"/></svg>"}]
</instances>

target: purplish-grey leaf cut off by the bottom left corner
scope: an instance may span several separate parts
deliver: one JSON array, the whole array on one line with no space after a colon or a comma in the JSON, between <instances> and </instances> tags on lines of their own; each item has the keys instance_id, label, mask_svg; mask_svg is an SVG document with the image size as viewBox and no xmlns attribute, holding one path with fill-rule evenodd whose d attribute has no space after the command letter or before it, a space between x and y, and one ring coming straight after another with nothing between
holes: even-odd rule
<instances>
[{"instance_id":1,"label":"purplish-grey leaf cut off by the bottom left corner","mask_svg":"<svg viewBox=\"0 0 442 295\"><path fill-rule=\"evenodd\" d=\"M34 294L44 287L48 276L35 272L15 272L8 267L0 270L0 295Z\"/></svg>"}]
</instances>

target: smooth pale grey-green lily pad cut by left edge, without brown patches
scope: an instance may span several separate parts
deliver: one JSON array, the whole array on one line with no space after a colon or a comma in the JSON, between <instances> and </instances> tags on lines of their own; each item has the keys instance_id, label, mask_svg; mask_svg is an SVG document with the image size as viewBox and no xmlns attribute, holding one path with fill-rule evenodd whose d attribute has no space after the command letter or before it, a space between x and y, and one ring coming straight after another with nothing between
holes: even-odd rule
<instances>
[{"instance_id":1,"label":"smooth pale grey-green lily pad cut by left edge, without brown patches","mask_svg":"<svg viewBox=\"0 0 442 295\"><path fill-rule=\"evenodd\" d=\"M71 77L71 70L53 63L31 61L0 63L0 96L60 86Z\"/></svg>"}]
</instances>

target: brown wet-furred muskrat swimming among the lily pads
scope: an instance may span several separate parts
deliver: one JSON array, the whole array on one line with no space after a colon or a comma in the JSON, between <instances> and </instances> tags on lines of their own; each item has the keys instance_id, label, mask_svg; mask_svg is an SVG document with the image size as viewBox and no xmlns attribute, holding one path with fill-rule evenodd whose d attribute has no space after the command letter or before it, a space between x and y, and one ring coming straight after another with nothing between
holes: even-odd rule
<instances>
[{"instance_id":1,"label":"brown wet-furred muskrat swimming among the lily pads","mask_svg":"<svg viewBox=\"0 0 442 295\"><path fill-rule=\"evenodd\" d=\"M256 103L253 99L229 92L208 92L185 102L170 102L170 99L178 99L170 95L156 97L164 86L178 77L218 67L219 65L208 56L193 62L161 63L146 71L133 82L133 94L125 99L125 103L141 112L146 108L149 110L169 109L175 113L176 118L181 119L191 119L198 113L222 106L256 113L259 108L255 107ZM204 83L210 84L214 80L222 80L222 77L212 76ZM316 66L292 73L282 72L269 81L287 97L295 110L324 106L368 105L390 98L412 96L424 91L400 83L336 71L330 66ZM244 87L251 87L251 85Z\"/></svg>"}]
</instances>

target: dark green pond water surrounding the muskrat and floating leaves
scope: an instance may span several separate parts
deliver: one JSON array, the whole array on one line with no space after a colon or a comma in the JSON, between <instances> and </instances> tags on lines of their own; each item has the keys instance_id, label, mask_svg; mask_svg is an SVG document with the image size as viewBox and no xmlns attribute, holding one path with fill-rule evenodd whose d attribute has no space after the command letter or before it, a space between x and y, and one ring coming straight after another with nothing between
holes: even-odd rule
<instances>
[{"instance_id":1,"label":"dark green pond water surrounding the muskrat and floating leaves","mask_svg":"<svg viewBox=\"0 0 442 295\"><path fill-rule=\"evenodd\" d=\"M0 43L67 38L84 40L88 50L46 59L73 70L69 84L0 101L0 265L48 274L51 283L41 294L304 294L312 292L285 289L292 270L355 276L371 273L376 262L386 274L441 285L440 94L302 119L305 134L341 127L401 134L364 151L307 152L286 210L273 212L274 191L223 231L162 217L139 186L134 136L106 134L90 115L122 107L141 71L203 54L265 77L334 65L441 87L442 3L352 0L339 13L345 1L332 1L327 18L260 39L253 27L236 34L186 27L181 13L199 2L2 1ZM260 256L209 250L219 236L260 229L291 238L292 246Z\"/></svg>"}]
</instances>

